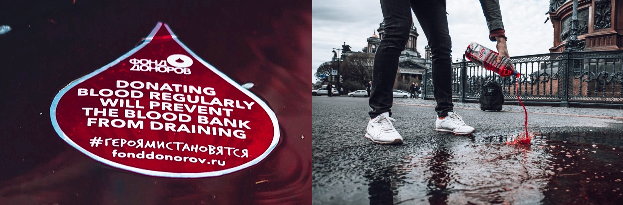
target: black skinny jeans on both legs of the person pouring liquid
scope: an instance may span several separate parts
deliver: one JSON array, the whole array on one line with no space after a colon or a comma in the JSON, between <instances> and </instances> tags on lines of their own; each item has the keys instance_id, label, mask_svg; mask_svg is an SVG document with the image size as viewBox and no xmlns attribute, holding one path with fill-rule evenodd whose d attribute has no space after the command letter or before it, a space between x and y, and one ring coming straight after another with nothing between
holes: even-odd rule
<instances>
[{"instance_id":1,"label":"black skinny jeans on both legs of the person pouring liquid","mask_svg":"<svg viewBox=\"0 0 623 205\"><path fill-rule=\"evenodd\" d=\"M452 42L445 16L445 0L381 0L383 39L376 55L372 74L372 90L369 104L374 118L389 112L394 101L392 88L398 70L398 59L404 50L411 29L411 9L416 14L430 46L432 56L432 81L437 101L435 111L440 117L452 111Z\"/></svg>"}]
</instances>

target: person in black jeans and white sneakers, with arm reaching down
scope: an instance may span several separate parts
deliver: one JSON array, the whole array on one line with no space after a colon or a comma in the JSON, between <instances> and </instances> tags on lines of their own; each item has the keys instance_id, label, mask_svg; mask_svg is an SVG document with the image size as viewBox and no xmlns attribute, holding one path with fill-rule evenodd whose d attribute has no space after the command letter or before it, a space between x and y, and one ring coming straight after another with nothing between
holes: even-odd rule
<instances>
[{"instance_id":1,"label":"person in black jeans and white sneakers, with arm reaching down","mask_svg":"<svg viewBox=\"0 0 623 205\"><path fill-rule=\"evenodd\" d=\"M457 3L460 3L457 1ZM480 0L487 20L489 39L496 42L500 55L509 57L506 37L502 24L502 13L498 0ZM463 117L453 110L452 104L452 60L450 59L451 41L448 29L445 0L381 0L384 34L376 50L373 63L373 81L369 98L370 120L365 137L376 143L402 143L402 136L394 128L396 120L392 118L392 88L396 79L398 60L404 50L411 30L411 11L419 21L426 35L432 56L433 95L437 106L435 112L435 131L452 132L466 135L475 132L465 124ZM468 31L464 31L468 32Z\"/></svg>"}]
</instances>

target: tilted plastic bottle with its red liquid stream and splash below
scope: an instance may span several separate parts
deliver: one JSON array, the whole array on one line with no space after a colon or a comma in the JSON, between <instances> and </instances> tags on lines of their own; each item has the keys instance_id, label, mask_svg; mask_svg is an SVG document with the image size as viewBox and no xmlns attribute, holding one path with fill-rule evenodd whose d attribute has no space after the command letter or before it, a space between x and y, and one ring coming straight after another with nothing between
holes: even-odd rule
<instances>
[{"instance_id":1,"label":"tilted plastic bottle with its red liquid stream and splash below","mask_svg":"<svg viewBox=\"0 0 623 205\"><path fill-rule=\"evenodd\" d=\"M470 43L470 45L467 46L467 50L465 50L465 57L467 57L467 59L469 59L471 62L474 62L487 70L497 73L498 75L502 76L502 78L505 78L508 76L516 76L516 78L519 78L521 76L521 73L515 70L515 67L513 66L513 62L511 62L509 58L502 57L502 60L500 61L500 63L498 63L497 52L487 47L483 47L482 45L476 42L472 42ZM519 88L518 81L515 81L515 88ZM506 144L528 145L530 144L530 139L532 139L535 133L528 132L528 111L526 111L526 106L524 106L523 102L521 102L521 99L519 99L519 93L518 92L515 92L515 93L517 93L517 100L521 104L521 107L523 107L523 112L526 116L526 119L524 122L525 130L522 131L519 135L517 135L517 137L512 142L506 142Z\"/></svg>"}]
</instances>

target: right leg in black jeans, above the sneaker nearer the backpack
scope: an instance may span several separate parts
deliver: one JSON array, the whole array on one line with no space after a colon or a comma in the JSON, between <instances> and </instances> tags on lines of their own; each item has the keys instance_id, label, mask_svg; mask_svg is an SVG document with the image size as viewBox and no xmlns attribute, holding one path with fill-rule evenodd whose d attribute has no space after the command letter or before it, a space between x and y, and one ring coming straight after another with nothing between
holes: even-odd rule
<instances>
[{"instance_id":1,"label":"right leg in black jeans, above the sneaker nearer the backpack","mask_svg":"<svg viewBox=\"0 0 623 205\"><path fill-rule=\"evenodd\" d=\"M435 111L439 117L452 111L452 42L448 30L445 1L412 0L422 31L426 35L432 57L433 95L437 101Z\"/></svg>"}]
</instances>

